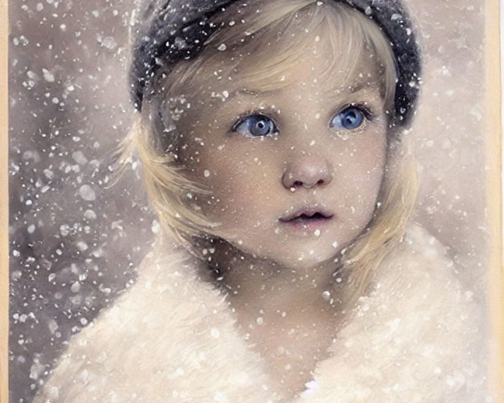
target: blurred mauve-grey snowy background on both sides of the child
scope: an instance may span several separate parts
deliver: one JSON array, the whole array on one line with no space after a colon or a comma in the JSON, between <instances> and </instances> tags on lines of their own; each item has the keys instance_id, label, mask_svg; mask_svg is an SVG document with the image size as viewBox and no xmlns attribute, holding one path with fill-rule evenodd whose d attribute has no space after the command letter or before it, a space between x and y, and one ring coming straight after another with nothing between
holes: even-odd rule
<instances>
[{"instance_id":1,"label":"blurred mauve-grey snowy background on both sides of the child","mask_svg":"<svg viewBox=\"0 0 504 403\"><path fill-rule=\"evenodd\" d=\"M410 0L424 51L411 136L416 220L484 290L482 0ZM137 172L111 185L133 117L132 0L10 2L10 401L29 402L75 332L135 279L158 226Z\"/></svg>"}]
</instances>

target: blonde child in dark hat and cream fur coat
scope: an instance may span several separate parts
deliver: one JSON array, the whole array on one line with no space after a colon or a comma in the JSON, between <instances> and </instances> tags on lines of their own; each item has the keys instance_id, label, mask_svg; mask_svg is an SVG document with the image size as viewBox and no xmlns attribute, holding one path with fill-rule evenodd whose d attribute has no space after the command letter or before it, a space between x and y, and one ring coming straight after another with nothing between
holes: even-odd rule
<instances>
[{"instance_id":1,"label":"blonde child in dark hat and cream fur coat","mask_svg":"<svg viewBox=\"0 0 504 403\"><path fill-rule=\"evenodd\" d=\"M477 306L408 224L402 5L140 10L132 145L163 234L35 401L484 401Z\"/></svg>"}]
</instances>

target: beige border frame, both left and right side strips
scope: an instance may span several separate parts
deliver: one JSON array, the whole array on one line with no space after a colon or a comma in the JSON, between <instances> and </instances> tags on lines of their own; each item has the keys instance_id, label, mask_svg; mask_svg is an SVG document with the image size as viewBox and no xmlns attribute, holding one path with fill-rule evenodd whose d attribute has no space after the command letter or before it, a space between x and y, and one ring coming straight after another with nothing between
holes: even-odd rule
<instances>
[{"instance_id":1,"label":"beige border frame, both left and right side strips","mask_svg":"<svg viewBox=\"0 0 504 403\"><path fill-rule=\"evenodd\" d=\"M485 0L486 105L486 196L488 210L489 312L494 343L490 354L491 385L502 402L500 385L504 385L504 273L502 264L502 197L501 197L501 120L499 4ZM8 403L9 339L9 211L8 211L8 0L0 0L0 403Z\"/></svg>"}]
</instances>

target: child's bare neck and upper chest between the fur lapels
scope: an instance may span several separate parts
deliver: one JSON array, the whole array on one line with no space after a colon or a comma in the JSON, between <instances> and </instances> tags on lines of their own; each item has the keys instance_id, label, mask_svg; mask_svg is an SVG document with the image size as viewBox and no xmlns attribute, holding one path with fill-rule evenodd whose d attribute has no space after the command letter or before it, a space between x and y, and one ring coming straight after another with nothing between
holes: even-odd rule
<instances>
[{"instance_id":1,"label":"child's bare neck and upper chest between the fur lapels","mask_svg":"<svg viewBox=\"0 0 504 403\"><path fill-rule=\"evenodd\" d=\"M293 269L229 245L216 248L214 258L240 331L284 392L300 392L316 364L327 358L342 320L341 304L334 302L334 263Z\"/></svg>"}]
</instances>

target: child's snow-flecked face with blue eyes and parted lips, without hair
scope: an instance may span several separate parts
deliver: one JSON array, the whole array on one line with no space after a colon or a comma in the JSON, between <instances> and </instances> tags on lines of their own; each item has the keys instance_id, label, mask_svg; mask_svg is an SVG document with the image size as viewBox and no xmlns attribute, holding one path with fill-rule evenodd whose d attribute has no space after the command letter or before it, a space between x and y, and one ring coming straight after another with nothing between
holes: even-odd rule
<instances>
[{"instance_id":1,"label":"child's snow-flecked face with blue eyes and parted lips, without hair","mask_svg":"<svg viewBox=\"0 0 504 403\"><path fill-rule=\"evenodd\" d=\"M323 55L300 56L274 91L209 75L180 122L185 174L211 190L196 204L215 234L289 267L332 259L365 229L387 154L374 59L319 81Z\"/></svg>"}]
</instances>

